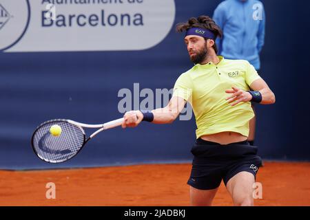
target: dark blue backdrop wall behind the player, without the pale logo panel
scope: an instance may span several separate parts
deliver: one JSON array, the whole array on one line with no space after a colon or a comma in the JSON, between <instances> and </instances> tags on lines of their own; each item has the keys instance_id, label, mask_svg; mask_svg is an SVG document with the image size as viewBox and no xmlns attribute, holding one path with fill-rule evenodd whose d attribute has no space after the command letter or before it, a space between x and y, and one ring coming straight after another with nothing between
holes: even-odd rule
<instances>
[{"instance_id":1,"label":"dark blue backdrop wall behind the player, without the pale logo panel","mask_svg":"<svg viewBox=\"0 0 310 220\"><path fill-rule=\"evenodd\" d=\"M194 2L194 3L193 3ZM309 160L308 1L262 1L267 14L260 75L276 104L257 107L256 144L263 159ZM175 23L212 16L220 1L176 1ZM74 159L46 164L31 148L32 131L45 120L70 118L100 123L122 117L118 90L172 88L192 67L183 35L174 28L149 50L122 52L0 52L0 168L103 166L192 159L194 118L173 124L144 122L111 129L89 142ZM0 39L1 41L1 39Z\"/></svg>"}]
</instances>

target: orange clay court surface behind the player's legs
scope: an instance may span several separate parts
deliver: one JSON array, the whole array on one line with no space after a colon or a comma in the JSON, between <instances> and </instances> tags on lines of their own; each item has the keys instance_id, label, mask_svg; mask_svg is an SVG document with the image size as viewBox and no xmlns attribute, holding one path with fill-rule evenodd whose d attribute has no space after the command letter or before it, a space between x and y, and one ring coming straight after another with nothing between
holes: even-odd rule
<instances>
[{"instance_id":1,"label":"orange clay court surface behind the player's legs","mask_svg":"<svg viewBox=\"0 0 310 220\"><path fill-rule=\"evenodd\" d=\"M189 206L190 164L0 171L0 206ZM256 206L310 206L310 163L265 162ZM54 182L56 199L46 199ZM223 183L214 206L232 206Z\"/></svg>"}]
</instances>

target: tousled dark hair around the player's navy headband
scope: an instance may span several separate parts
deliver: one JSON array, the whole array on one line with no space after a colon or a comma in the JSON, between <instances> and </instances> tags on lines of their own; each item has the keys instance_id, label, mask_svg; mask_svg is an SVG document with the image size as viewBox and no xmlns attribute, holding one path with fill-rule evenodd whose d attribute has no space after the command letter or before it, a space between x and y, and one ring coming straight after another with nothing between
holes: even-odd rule
<instances>
[{"instance_id":1,"label":"tousled dark hair around the player's navy headband","mask_svg":"<svg viewBox=\"0 0 310 220\"><path fill-rule=\"evenodd\" d=\"M217 37L222 38L222 36L223 36L223 32L220 29L220 27L218 27L218 25L216 25L216 23L213 19L211 19L209 16L206 16L206 15L201 15L198 18L192 17L186 23L178 23L176 25L176 31L177 32L184 32L184 31L189 30L189 28L207 29L214 34L215 38L217 38ZM218 53L218 47L216 47L216 43L214 43L213 49L217 54Z\"/></svg>"}]
</instances>

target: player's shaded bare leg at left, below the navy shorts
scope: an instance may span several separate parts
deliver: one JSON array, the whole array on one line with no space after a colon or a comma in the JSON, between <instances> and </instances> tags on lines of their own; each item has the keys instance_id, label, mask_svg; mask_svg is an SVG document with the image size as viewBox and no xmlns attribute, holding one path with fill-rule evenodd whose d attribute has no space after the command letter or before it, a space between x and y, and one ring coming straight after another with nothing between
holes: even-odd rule
<instances>
[{"instance_id":1,"label":"player's shaded bare leg at left, below the navy shorts","mask_svg":"<svg viewBox=\"0 0 310 220\"><path fill-rule=\"evenodd\" d=\"M190 186L189 193L191 206L211 206L211 203L216 195L218 188L211 190L199 190Z\"/></svg>"}]
</instances>

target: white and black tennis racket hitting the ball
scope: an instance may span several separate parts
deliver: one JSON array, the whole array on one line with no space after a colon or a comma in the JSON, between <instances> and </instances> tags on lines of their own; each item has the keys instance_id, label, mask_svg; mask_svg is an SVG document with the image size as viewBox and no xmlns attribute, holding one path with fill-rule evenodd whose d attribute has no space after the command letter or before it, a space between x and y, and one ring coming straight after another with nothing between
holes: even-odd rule
<instances>
[{"instance_id":1,"label":"white and black tennis racket hitting the ball","mask_svg":"<svg viewBox=\"0 0 310 220\"><path fill-rule=\"evenodd\" d=\"M40 124L34 131L32 148L45 162L65 162L79 153L81 148L99 132L120 126L122 123L123 118L105 124L83 124L65 119L49 120ZM51 133L52 126L59 128L57 135ZM83 128L99 129L90 137L86 137Z\"/></svg>"}]
</instances>

